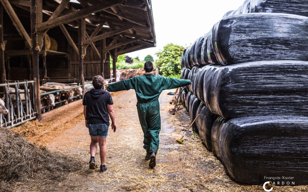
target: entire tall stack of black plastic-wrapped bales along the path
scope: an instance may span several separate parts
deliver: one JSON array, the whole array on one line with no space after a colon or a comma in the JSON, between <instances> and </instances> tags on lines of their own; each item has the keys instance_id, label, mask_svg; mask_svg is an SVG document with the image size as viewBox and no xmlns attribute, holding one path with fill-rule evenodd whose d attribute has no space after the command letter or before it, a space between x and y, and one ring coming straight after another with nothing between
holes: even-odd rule
<instances>
[{"instance_id":1,"label":"entire tall stack of black plastic-wrapped bales along the path","mask_svg":"<svg viewBox=\"0 0 308 192\"><path fill-rule=\"evenodd\" d=\"M200 113L202 143L237 182L308 184L307 10L246 0L181 57L191 120Z\"/></svg>"}]
</instances>

